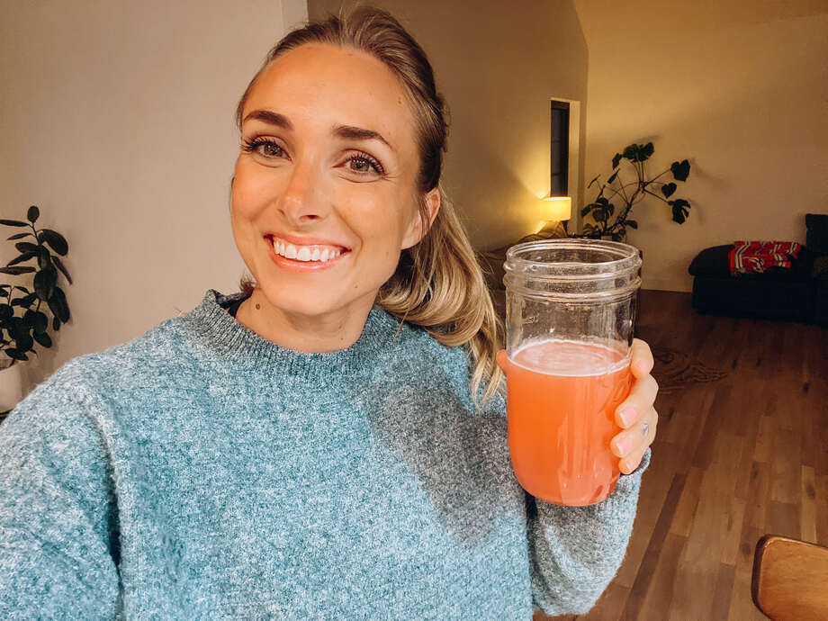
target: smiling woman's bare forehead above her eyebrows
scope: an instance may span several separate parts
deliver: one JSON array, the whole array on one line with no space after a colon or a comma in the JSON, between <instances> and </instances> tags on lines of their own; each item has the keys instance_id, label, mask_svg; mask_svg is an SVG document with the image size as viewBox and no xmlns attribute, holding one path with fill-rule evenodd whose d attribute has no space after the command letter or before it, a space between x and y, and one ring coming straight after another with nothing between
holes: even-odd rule
<instances>
[{"instance_id":1,"label":"smiling woman's bare forehead above her eyebrows","mask_svg":"<svg viewBox=\"0 0 828 621\"><path fill-rule=\"evenodd\" d=\"M243 115L259 109L282 113L294 126L378 131L395 146L413 139L400 78L358 49L309 43L276 58L248 94Z\"/></svg>"}]
</instances>

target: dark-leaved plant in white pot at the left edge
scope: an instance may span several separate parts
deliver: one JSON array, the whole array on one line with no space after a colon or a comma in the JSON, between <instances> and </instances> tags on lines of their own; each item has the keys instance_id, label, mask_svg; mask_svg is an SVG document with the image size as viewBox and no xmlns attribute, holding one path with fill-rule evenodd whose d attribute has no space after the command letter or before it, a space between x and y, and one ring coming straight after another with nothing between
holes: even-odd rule
<instances>
[{"instance_id":1,"label":"dark-leaved plant in white pot at the left edge","mask_svg":"<svg viewBox=\"0 0 828 621\"><path fill-rule=\"evenodd\" d=\"M35 343L42 347L51 347L49 337L49 311L51 329L59 330L60 325L69 320L69 307L66 294L58 286L58 272L72 284L66 266L57 255L66 257L69 251L66 238L52 229L38 229L35 222L40 217L40 210L32 205L26 214L28 222L20 220L0 220L7 227L24 228L30 231L16 233L8 240L17 241L14 246L20 255L9 261L0 272L8 275L34 274L31 285L33 291L16 284L0 284L0 412L12 410L22 398L22 381L20 365L29 360L31 352L37 355ZM37 267L24 266L28 261L36 261ZM42 307L42 308L41 308Z\"/></svg>"}]
</instances>

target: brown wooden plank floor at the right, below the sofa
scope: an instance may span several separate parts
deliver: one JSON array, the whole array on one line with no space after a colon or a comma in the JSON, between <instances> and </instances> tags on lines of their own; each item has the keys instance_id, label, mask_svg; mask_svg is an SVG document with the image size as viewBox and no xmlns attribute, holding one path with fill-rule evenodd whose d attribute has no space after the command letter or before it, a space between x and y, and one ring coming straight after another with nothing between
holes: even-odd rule
<instances>
[{"instance_id":1,"label":"brown wooden plank floor at the right, below the sofa","mask_svg":"<svg viewBox=\"0 0 828 621\"><path fill-rule=\"evenodd\" d=\"M765 619L751 599L760 536L828 545L828 329L642 292L639 336L728 376L659 396L624 564L590 614L536 621Z\"/></svg>"}]
</instances>

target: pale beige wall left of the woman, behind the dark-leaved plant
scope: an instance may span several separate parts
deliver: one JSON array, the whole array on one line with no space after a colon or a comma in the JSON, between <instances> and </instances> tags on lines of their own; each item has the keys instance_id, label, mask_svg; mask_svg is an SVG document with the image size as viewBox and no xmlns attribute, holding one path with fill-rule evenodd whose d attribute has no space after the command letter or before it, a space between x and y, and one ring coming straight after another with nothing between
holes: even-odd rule
<instances>
[{"instance_id":1,"label":"pale beige wall left of the woman, behind the dark-leaved plant","mask_svg":"<svg viewBox=\"0 0 828 621\"><path fill-rule=\"evenodd\" d=\"M237 290L233 112L283 22L305 18L303 0L0 2L2 217L39 205L75 282L72 320L38 347L30 387L208 288Z\"/></svg>"}]
</instances>

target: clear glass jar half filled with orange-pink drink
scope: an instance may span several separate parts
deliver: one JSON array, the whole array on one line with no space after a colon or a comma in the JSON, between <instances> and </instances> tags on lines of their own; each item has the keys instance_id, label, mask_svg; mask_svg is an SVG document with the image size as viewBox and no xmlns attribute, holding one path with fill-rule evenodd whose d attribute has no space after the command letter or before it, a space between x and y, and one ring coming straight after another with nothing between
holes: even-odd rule
<instances>
[{"instance_id":1,"label":"clear glass jar half filled with orange-pink drink","mask_svg":"<svg viewBox=\"0 0 828 621\"><path fill-rule=\"evenodd\" d=\"M641 258L613 241L545 239L506 255L509 454L518 482L561 505L604 500L620 474L609 442L632 385Z\"/></svg>"}]
</instances>

